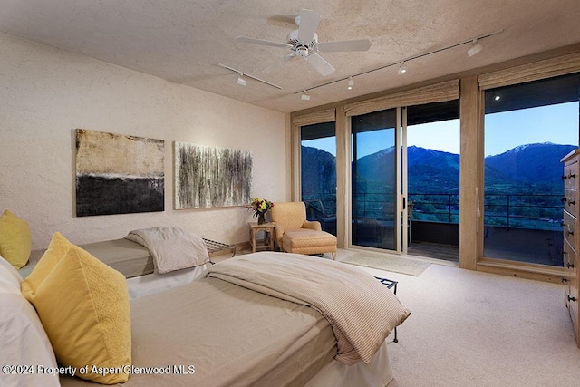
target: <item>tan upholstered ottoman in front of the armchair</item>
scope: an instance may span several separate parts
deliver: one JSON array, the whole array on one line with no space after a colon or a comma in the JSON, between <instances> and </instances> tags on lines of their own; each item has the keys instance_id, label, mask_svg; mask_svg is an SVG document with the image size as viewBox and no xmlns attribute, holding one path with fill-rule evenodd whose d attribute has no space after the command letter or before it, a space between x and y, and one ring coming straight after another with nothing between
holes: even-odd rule
<instances>
[{"instance_id":1,"label":"tan upholstered ottoman in front of the armchair","mask_svg":"<svg viewBox=\"0 0 580 387\"><path fill-rule=\"evenodd\" d=\"M336 252L336 237L325 231L290 231L282 237L282 246L288 253L333 253Z\"/></svg>"}]
</instances>

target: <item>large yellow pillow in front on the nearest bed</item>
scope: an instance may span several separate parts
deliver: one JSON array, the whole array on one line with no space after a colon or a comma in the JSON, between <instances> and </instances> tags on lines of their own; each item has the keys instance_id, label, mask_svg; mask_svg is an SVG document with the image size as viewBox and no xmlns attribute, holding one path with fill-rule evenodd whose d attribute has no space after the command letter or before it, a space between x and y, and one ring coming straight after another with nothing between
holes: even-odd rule
<instances>
[{"instance_id":1,"label":"large yellow pillow in front on the nearest bed","mask_svg":"<svg viewBox=\"0 0 580 387\"><path fill-rule=\"evenodd\" d=\"M59 363L88 365L78 376L93 382L127 382L131 306L125 276L72 246L35 289L32 304ZM93 366L116 371L91 372Z\"/></svg>"}]
</instances>

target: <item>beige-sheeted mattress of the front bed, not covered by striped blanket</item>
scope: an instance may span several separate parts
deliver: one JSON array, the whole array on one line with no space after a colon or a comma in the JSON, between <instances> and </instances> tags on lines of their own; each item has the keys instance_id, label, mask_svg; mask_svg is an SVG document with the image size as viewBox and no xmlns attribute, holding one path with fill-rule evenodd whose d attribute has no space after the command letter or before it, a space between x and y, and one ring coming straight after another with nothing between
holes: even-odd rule
<instances>
[{"instance_id":1,"label":"beige-sheeted mattress of the front bed, not covered by striped blanket","mask_svg":"<svg viewBox=\"0 0 580 387\"><path fill-rule=\"evenodd\" d=\"M335 362L322 314L218 278L132 300L131 321L133 368L169 374L133 373L124 386L304 386Z\"/></svg>"}]
</instances>

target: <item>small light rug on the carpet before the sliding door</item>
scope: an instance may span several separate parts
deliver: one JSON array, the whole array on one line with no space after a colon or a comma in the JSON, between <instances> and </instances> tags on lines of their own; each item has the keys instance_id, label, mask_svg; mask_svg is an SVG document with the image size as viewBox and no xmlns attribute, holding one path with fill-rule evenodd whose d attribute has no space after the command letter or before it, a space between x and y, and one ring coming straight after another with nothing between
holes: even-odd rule
<instances>
[{"instance_id":1,"label":"small light rug on the carpet before the sliding door","mask_svg":"<svg viewBox=\"0 0 580 387\"><path fill-rule=\"evenodd\" d=\"M345 264L372 267L409 276L420 276L430 263L400 256L382 256L372 253L355 253L341 260Z\"/></svg>"}]
</instances>

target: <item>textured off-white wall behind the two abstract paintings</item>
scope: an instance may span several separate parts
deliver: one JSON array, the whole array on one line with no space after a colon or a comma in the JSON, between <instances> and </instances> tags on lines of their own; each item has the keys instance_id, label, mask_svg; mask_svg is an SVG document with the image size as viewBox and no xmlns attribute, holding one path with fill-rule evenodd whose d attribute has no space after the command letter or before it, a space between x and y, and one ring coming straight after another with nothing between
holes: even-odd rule
<instances>
[{"instance_id":1,"label":"textured off-white wall behind the two abstract paintings","mask_svg":"<svg viewBox=\"0 0 580 387\"><path fill-rule=\"evenodd\" d=\"M160 225L244 242L246 208L173 209L173 141L252 151L252 195L281 201L286 122L284 113L0 34L0 212L29 222L33 248L55 231L82 244ZM165 140L165 211L76 218L76 128Z\"/></svg>"}]
</instances>

